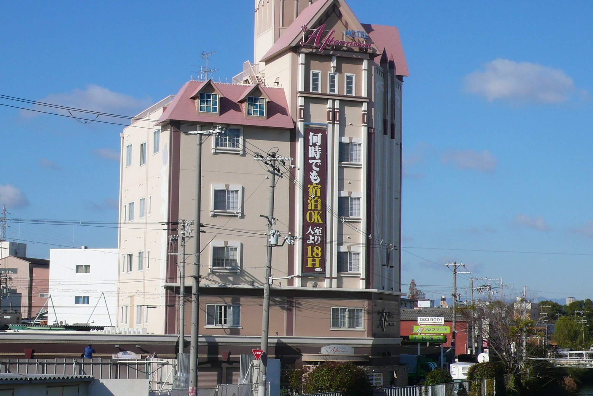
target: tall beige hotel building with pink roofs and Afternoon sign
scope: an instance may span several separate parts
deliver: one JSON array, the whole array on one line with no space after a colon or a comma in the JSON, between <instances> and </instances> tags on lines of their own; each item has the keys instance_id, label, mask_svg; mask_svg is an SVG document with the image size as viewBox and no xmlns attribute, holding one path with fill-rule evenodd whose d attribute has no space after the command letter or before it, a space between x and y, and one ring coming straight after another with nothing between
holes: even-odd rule
<instances>
[{"instance_id":1,"label":"tall beige hotel building with pink roofs and Afternoon sign","mask_svg":"<svg viewBox=\"0 0 593 396\"><path fill-rule=\"evenodd\" d=\"M274 228L296 240L273 248L272 277L284 279L272 285L270 357L323 361L321 347L340 344L353 347L346 360L397 363L408 75L397 28L361 24L343 0L256 0L254 11L254 62L232 84L186 82L123 130L117 325L178 331L177 222L196 214L189 132L220 127L202 136L200 375L228 381L259 346L269 173L258 153L292 159L276 179Z\"/></svg>"}]
</instances>

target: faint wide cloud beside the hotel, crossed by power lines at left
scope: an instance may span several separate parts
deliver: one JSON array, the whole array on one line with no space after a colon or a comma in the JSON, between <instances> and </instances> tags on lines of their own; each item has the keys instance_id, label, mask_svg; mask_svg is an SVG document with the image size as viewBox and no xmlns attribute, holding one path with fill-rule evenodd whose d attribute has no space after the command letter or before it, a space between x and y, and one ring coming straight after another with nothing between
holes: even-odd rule
<instances>
[{"instance_id":1,"label":"faint wide cloud beside the hotel, crossed by power lines at left","mask_svg":"<svg viewBox=\"0 0 593 396\"><path fill-rule=\"evenodd\" d=\"M69 92L49 94L39 100L43 103L59 104L60 106L81 108L82 110L101 111L103 113L120 114L133 117L144 108L151 105L148 98L139 99L130 95L114 92L99 85L87 85L84 90L75 88ZM67 110L59 110L46 106L35 105L35 110L52 111L54 113L68 114ZM21 110L21 114L33 117L40 113ZM72 111L75 117L94 119L95 116L89 113Z\"/></svg>"}]
</instances>

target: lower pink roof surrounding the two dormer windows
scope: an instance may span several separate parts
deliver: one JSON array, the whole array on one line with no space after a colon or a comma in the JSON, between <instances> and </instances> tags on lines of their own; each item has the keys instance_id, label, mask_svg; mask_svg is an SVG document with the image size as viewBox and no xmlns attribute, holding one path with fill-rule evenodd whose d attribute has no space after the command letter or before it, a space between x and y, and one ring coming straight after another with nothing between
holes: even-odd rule
<instances>
[{"instance_id":1,"label":"lower pink roof surrounding the two dormer windows","mask_svg":"<svg viewBox=\"0 0 593 396\"><path fill-rule=\"evenodd\" d=\"M246 85L223 84L221 82L212 82L212 84L221 92L222 98L219 100L219 116L199 116L196 110L196 101L191 97L199 90L204 81L188 81L177 92L175 98L167 109L158 119L157 124L167 120L180 120L187 122L203 123L221 123L263 126L269 128L294 128L294 122L288 110L286 96L282 88L262 87L260 89L266 92L270 98L267 102L266 117L246 118L243 113L243 106L237 103L241 95L246 92ZM252 86L253 87L253 86Z\"/></svg>"}]
</instances>

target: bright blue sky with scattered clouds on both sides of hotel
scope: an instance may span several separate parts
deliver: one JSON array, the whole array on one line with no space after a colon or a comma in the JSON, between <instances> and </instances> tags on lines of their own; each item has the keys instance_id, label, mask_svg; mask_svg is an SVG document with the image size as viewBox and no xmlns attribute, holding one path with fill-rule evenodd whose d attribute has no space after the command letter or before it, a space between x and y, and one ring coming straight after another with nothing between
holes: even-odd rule
<instances>
[{"instance_id":1,"label":"bright blue sky with scattered clouds on both sides of hotel","mask_svg":"<svg viewBox=\"0 0 593 396\"><path fill-rule=\"evenodd\" d=\"M531 296L591 298L593 5L349 5L362 23L399 28L411 74L402 289L415 279L433 298L450 295L443 264L457 260L513 284L505 295L526 285ZM222 81L253 60L251 1L31 1L3 11L4 95L133 115L196 76L203 50L218 50L210 65ZM11 216L116 220L122 127L5 106L0 119L0 203ZM20 238L36 241L30 256L47 257L52 244L72 245L73 231L75 246L117 243L114 228L81 226L21 225ZM18 238L18 225L7 234ZM518 251L536 253L509 253ZM467 279L458 284L465 295Z\"/></svg>"}]
</instances>

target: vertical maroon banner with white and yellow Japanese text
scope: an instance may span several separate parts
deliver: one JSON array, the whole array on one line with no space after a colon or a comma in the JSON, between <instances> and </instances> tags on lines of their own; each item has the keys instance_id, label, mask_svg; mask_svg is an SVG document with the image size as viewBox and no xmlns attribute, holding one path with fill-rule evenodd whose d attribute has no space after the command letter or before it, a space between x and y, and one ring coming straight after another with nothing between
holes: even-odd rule
<instances>
[{"instance_id":1,"label":"vertical maroon banner with white and yellow Japanese text","mask_svg":"<svg viewBox=\"0 0 593 396\"><path fill-rule=\"evenodd\" d=\"M302 273L326 274L327 130L305 129Z\"/></svg>"}]
</instances>

